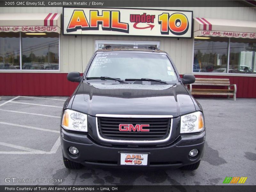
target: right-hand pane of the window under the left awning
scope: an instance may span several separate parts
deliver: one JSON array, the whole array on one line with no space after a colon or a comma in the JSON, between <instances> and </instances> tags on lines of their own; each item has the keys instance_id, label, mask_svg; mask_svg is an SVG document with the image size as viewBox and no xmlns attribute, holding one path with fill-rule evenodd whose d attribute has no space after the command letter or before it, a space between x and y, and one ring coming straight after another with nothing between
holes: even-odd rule
<instances>
[{"instance_id":1,"label":"right-hand pane of the window under the left awning","mask_svg":"<svg viewBox=\"0 0 256 192\"><path fill-rule=\"evenodd\" d=\"M59 69L59 34L22 33L22 69Z\"/></svg>"}]
</instances>

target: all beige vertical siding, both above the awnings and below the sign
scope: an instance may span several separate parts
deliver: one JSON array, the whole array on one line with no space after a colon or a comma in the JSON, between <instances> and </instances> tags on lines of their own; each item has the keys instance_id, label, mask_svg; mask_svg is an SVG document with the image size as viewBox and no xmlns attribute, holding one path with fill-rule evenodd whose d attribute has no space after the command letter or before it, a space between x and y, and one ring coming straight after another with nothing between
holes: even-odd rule
<instances>
[{"instance_id":1,"label":"all beige vertical siding, both above the awnings and below the sign","mask_svg":"<svg viewBox=\"0 0 256 192\"><path fill-rule=\"evenodd\" d=\"M211 5L209 1L209 6ZM256 20L256 10L250 7L159 7L159 9L193 11L193 17ZM241 4L240 4L241 6ZM151 7L156 9L156 7ZM146 8L146 9L149 9ZM62 13L62 7L0 7L1 13ZM180 74L192 73L193 39L134 37L134 36L61 36L60 37L60 72L83 72L93 52L95 40L132 40L132 41L160 41L160 49L166 51L175 62ZM81 52L81 42L82 50ZM83 70L82 70L83 56ZM8 71L10 72L10 71ZM17 71L16 71L17 72Z\"/></svg>"}]
</instances>

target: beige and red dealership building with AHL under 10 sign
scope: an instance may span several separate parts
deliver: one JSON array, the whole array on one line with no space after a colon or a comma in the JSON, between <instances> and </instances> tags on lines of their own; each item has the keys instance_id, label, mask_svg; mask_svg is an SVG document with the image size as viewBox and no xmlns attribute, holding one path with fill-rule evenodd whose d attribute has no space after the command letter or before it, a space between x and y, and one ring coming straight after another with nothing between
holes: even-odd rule
<instances>
[{"instance_id":1,"label":"beige and red dealership building with AHL under 10 sign","mask_svg":"<svg viewBox=\"0 0 256 192\"><path fill-rule=\"evenodd\" d=\"M0 7L0 95L69 96L106 45L155 46L178 72L228 78L256 98L256 9L230 7ZM152 10L155 9L155 10ZM116 76L117 77L117 76Z\"/></svg>"}]
</instances>

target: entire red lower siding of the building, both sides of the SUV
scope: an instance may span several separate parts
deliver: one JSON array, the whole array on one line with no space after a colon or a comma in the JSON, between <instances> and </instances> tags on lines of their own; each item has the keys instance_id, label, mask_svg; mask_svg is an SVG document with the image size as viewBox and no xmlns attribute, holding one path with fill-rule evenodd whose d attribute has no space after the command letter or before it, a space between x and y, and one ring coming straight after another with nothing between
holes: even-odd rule
<instances>
[{"instance_id":1,"label":"entire red lower siding of the building, both sides of the SUV","mask_svg":"<svg viewBox=\"0 0 256 192\"><path fill-rule=\"evenodd\" d=\"M229 78L236 84L236 97L256 98L256 77L209 76L201 78ZM78 83L67 80L67 73L0 73L0 95L69 96Z\"/></svg>"}]
</instances>

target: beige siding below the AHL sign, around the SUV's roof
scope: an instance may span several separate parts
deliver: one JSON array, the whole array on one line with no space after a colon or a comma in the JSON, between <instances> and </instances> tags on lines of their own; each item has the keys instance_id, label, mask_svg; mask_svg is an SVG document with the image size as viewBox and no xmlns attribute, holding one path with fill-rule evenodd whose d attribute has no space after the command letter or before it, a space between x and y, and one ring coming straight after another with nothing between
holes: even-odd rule
<instances>
[{"instance_id":1,"label":"beige siding below the AHL sign, around the SUV's roof","mask_svg":"<svg viewBox=\"0 0 256 192\"><path fill-rule=\"evenodd\" d=\"M124 41L160 41L160 48L166 51L175 62L178 71L183 74L192 71L193 39L133 37L133 36L62 36L62 72L82 72L81 60L83 56L83 70L95 51L96 40L124 40ZM81 39L82 38L82 39ZM81 41L83 54L81 56Z\"/></svg>"}]
</instances>

